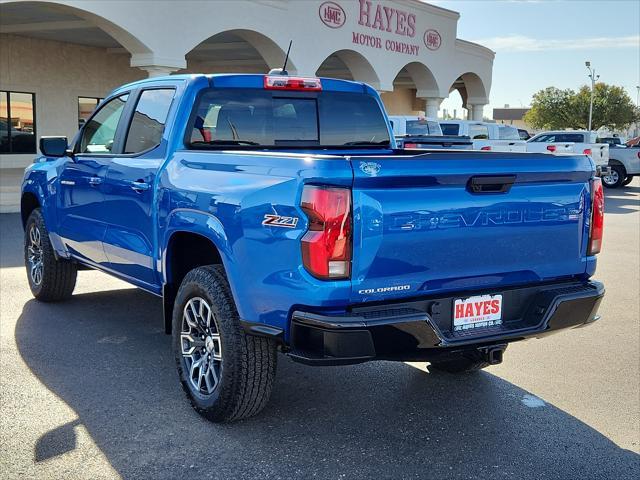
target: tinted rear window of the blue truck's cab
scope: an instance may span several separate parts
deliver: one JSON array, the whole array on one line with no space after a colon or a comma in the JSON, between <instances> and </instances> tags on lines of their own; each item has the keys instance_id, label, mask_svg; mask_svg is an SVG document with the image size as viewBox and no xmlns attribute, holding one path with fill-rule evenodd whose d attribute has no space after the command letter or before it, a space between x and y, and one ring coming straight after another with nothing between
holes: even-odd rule
<instances>
[{"instance_id":1,"label":"tinted rear window of the blue truck's cab","mask_svg":"<svg viewBox=\"0 0 640 480\"><path fill-rule=\"evenodd\" d=\"M200 97L192 123L194 147L390 145L375 98L358 93L211 89Z\"/></svg>"}]
</instances>

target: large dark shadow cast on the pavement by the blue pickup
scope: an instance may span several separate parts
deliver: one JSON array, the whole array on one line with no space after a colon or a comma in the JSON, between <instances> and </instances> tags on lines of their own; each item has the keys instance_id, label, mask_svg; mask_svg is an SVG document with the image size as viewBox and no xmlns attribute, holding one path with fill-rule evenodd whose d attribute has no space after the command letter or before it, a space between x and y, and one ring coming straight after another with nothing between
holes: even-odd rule
<instances>
[{"instance_id":1,"label":"large dark shadow cast on the pavement by the blue pickup","mask_svg":"<svg viewBox=\"0 0 640 480\"><path fill-rule=\"evenodd\" d=\"M259 417L211 424L182 393L161 318L161 302L138 290L24 306L19 351L79 417L40 438L36 462L75 448L74 427L83 424L125 478L564 479L638 471L635 453L487 372L435 375L388 362L312 368L280 356Z\"/></svg>"}]
</instances>

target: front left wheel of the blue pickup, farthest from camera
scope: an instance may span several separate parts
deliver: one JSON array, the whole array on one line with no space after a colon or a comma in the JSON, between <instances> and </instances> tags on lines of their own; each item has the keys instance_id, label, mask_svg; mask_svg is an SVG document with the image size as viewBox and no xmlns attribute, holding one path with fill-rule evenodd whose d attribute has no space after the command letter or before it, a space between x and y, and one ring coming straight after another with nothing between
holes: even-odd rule
<instances>
[{"instance_id":1,"label":"front left wheel of the blue pickup, farthest from camera","mask_svg":"<svg viewBox=\"0 0 640 480\"><path fill-rule=\"evenodd\" d=\"M34 237L39 239L39 248ZM39 262L38 262L39 260ZM74 262L56 258L49 240L49 231L39 208L29 218L24 231L24 263L33 296L41 302L59 302L73 294L78 276ZM36 265L40 265L38 274Z\"/></svg>"}]
</instances>

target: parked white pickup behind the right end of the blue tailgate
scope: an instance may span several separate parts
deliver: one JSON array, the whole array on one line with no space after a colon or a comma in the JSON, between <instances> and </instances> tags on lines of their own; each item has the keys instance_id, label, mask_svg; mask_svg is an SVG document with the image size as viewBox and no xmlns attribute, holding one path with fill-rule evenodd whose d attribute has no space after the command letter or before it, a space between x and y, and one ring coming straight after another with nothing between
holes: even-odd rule
<instances>
[{"instance_id":1,"label":"parked white pickup behind the right end of the blue tailgate","mask_svg":"<svg viewBox=\"0 0 640 480\"><path fill-rule=\"evenodd\" d=\"M527 140L527 151L536 153L571 153L589 155L596 166L606 173L609 145L598 143L595 132L586 130L556 130L541 132Z\"/></svg>"}]
</instances>

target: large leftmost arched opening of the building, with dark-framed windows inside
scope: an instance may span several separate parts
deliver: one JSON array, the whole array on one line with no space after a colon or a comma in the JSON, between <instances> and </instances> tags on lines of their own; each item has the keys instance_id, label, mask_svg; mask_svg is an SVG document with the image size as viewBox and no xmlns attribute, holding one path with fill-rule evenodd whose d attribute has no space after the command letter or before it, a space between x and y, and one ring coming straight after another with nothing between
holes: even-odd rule
<instances>
[{"instance_id":1,"label":"large leftmost arched opening of the building, with dark-framed windows inside","mask_svg":"<svg viewBox=\"0 0 640 480\"><path fill-rule=\"evenodd\" d=\"M0 154L34 154L36 136L72 138L111 90L147 76L130 60L150 49L97 14L26 1L0 4L0 17L0 44L12 52L0 56L0 116L11 117L12 140L24 142L26 129L33 134L28 148L3 142Z\"/></svg>"}]
</instances>

